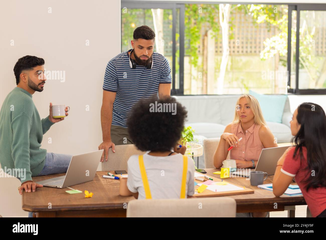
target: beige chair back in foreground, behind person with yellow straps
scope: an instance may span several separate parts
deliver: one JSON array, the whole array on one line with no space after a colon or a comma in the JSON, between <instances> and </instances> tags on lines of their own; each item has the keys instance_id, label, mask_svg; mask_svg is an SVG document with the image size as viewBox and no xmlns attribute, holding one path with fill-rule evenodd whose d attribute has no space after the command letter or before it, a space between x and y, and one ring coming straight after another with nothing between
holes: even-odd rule
<instances>
[{"instance_id":1,"label":"beige chair back in foreground, behind person with yellow straps","mask_svg":"<svg viewBox=\"0 0 326 240\"><path fill-rule=\"evenodd\" d=\"M140 199L127 205L127 217L235 217L236 202L229 197Z\"/></svg>"}]
</instances>

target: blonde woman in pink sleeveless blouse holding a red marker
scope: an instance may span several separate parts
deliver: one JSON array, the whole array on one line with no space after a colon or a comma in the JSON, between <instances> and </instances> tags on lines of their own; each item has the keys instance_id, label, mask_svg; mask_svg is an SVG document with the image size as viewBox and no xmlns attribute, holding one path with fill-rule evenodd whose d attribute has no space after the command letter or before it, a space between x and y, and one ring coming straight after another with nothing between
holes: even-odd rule
<instances>
[{"instance_id":1,"label":"blonde woman in pink sleeveless blouse holding a red marker","mask_svg":"<svg viewBox=\"0 0 326 240\"><path fill-rule=\"evenodd\" d=\"M239 142L239 139L242 140ZM277 147L274 135L266 126L259 102L251 95L238 98L232 123L226 126L214 154L215 168L222 167L222 161L228 156L235 159L237 168L254 168L263 148ZM268 213L243 213L237 217L267 217Z\"/></svg>"}]
</instances>

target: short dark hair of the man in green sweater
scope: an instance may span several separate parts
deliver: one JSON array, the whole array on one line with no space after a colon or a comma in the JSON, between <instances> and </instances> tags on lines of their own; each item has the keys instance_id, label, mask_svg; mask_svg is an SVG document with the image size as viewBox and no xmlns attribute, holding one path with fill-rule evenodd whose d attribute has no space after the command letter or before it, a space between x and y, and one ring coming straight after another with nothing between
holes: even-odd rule
<instances>
[{"instance_id":1,"label":"short dark hair of the man in green sweater","mask_svg":"<svg viewBox=\"0 0 326 240\"><path fill-rule=\"evenodd\" d=\"M39 58L36 56L24 56L18 59L17 63L15 64L14 67L14 74L16 77L16 84L18 85L19 80L20 80L20 74L24 70L32 70L36 66L42 66L44 65L44 59Z\"/></svg>"}]
</instances>

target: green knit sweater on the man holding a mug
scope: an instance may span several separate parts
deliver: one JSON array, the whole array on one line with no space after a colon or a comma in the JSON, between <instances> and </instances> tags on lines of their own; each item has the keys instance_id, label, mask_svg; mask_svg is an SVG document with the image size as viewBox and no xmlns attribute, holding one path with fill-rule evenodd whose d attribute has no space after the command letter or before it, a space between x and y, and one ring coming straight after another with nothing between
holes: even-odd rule
<instances>
[{"instance_id":1,"label":"green knit sweater on the man holding a mug","mask_svg":"<svg viewBox=\"0 0 326 240\"><path fill-rule=\"evenodd\" d=\"M22 183L37 176L45 164L46 149L40 148L43 134L52 125L49 116L40 119L32 95L15 87L0 111L1 168L7 167L7 173L8 169L26 169Z\"/></svg>"}]
</instances>

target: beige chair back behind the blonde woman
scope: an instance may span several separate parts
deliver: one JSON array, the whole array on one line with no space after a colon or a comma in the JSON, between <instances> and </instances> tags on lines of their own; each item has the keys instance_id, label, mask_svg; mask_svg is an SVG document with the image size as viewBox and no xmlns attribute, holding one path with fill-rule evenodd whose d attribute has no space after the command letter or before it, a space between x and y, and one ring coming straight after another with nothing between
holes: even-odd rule
<instances>
[{"instance_id":1,"label":"beige chair back behind the blonde woman","mask_svg":"<svg viewBox=\"0 0 326 240\"><path fill-rule=\"evenodd\" d=\"M213 156L215 150L220 142L220 138L206 138L204 139L203 148L204 148L204 161L205 168L215 168L213 164ZM227 158L229 158L230 153ZM288 217L295 216L295 206L285 206L284 210L288 211Z\"/></svg>"}]
</instances>

